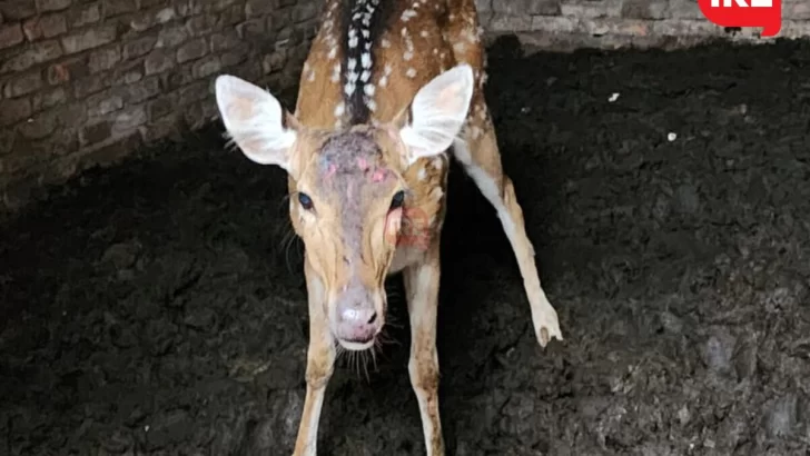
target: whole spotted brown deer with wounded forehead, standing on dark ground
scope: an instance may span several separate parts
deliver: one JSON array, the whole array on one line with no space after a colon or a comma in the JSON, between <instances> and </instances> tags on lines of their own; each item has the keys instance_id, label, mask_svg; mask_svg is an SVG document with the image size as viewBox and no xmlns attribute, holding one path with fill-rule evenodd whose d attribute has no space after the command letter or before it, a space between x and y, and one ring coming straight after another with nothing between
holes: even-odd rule
<instances>
[{"instance_id":1,"label":"whole spotted brown deer with wounded forehead, standing on dark ground","mask_svg":"<svg viewBox=\"0 0 810 456\"><path fill-rule=\"evenodd\" d=\"M309 341L293 454L317 454L336 357L374 347L386 325L385 280L399 274L426 454L444 455L436 316L451 157L501 220L540 346L563 340L502 167L475 1L326 0L319 20L294 113L238 77L215 81L230 145L286 171L289 218L304 245Z\"/></svg>"}]
</instances>

